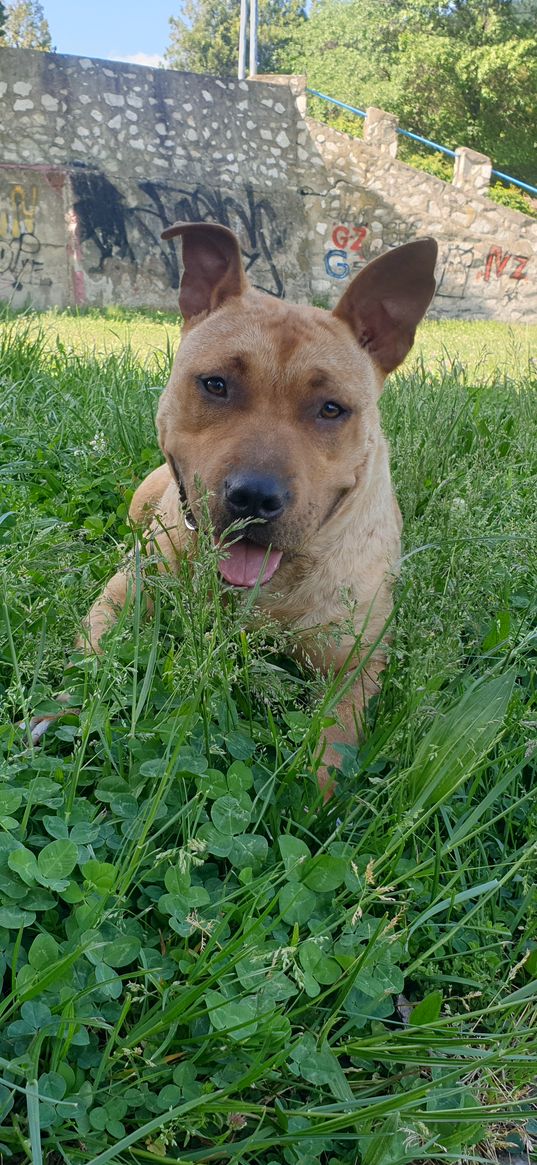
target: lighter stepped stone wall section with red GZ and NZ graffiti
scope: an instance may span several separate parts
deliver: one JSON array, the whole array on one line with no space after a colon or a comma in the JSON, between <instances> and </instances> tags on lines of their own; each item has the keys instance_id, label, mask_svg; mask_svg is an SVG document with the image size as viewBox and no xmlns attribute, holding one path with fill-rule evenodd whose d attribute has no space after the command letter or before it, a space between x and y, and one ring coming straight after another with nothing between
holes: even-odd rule
<instances>
[{"instance_id":1,"label":"lighter stepped stone wall section with red GZ and NZ graffiti","mask_svg":"<svg viewBox=\"0 0 537 1165\"><path fill-rule=\"evenodd\" d=\"M396 161L393 141L381 148L379 137L368 135L369 116L376 130L380 112L368 111L363 140L311 120L302 132L310 155L304 163L310 247L316 254L319 242L324 247L312 292L334 303L363 262L431 234L439 243L431 316L537 322L537 220L487 198L490 162L481 154L457 151L457 185ZM330 183L323 184L324 172Z\"/></svg>"}]
</instances>

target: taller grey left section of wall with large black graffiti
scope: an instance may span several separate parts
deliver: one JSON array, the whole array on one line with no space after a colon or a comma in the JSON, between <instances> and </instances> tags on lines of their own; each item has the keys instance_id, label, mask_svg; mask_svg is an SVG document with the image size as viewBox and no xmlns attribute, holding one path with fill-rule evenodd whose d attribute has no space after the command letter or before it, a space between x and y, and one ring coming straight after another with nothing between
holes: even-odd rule
<instances>
[{"instance_id":1,"label":"taller grey left section of wall with large black graffiti","mask_svg":"<svg viewBox=\"0 0 537 1165\"><path fill-rule=\"evenodd\" d=\"M308 297L288 85L1 49L0 105L0 299L175 306L176 219L225 223L253 283Z\"/></svg>"}]
</instances>

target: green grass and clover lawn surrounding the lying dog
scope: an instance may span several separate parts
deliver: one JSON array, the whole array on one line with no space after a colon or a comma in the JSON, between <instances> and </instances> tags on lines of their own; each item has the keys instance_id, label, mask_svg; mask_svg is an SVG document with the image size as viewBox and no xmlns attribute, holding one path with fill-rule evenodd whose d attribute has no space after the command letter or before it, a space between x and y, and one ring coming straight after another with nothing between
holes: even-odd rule
<instances>
[{"instance_id":1,"label":"green grass and clover lawn surrounding the lying dog","mask_svg":"<svg viewBox=\"0 0 537 1165\"><path fill-rule=\"evenodd\" d=\"M160 460L169 352L80 354L54 343L64 319L0 336L0 1153L398 1165L528 1148L535 365L503 352L483 383L461 343L390 380L394 641L323 806L334 689L274 628L246 638L209 539L192 574L151 580L153 621L137 588L103 662L73 657L65 679ZM430 326L439 353L468 327ZM80 715L31 750L15 721L66 684Z\"/></svg>"}]
</instances>

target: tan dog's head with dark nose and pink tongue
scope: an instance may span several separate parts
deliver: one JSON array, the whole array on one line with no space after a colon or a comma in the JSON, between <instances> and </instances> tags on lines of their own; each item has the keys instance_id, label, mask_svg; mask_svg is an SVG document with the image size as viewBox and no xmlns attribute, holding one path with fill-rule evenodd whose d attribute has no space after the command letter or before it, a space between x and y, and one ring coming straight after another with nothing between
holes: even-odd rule
<instances>
[{"instance_id":1,"label":"tan dog's head with dark nose and pink tongue","mask_svg":"<svg viewBox=\"0 0 537 1165\"><path fill-rule=\"evenodd\" d=\"M328 312L254 290L227 227L177 223L163 239L177 234L185 326L160 442L195 518L209 494L217 538L253 520L220 565L229 582L253 586L263 560L268 581L363 482L384 377L434 292L437 245L375 259Z\"/></svg>"}]
</instances>

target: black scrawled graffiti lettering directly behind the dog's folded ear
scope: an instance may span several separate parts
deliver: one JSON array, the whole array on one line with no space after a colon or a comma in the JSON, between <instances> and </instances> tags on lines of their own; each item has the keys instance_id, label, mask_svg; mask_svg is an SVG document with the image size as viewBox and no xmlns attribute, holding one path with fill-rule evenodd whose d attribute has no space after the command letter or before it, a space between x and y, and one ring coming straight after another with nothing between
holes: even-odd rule
<instances>
[{"instance_id":1,"label":"black scrawled graffiti lettering directly behind the dog's folded ear","mask_svg":"<svg viewBox=\"0 0 537 1165\"><path fill-rule=\"evenodd\" d=\"M161 231L170 223L220 223L238 234L245 269L254 287L278 298L284 296L275 252L283 248L285 232L278 226L268 198L256 196L249 184L245 186L243 200L202 185L195 190L155 182L139 185L150 205L135 206L129 213L151 246L158 248L170 287L179 285L179 263L176 245L162 242Z\"/></svg>"}]
</instances>

